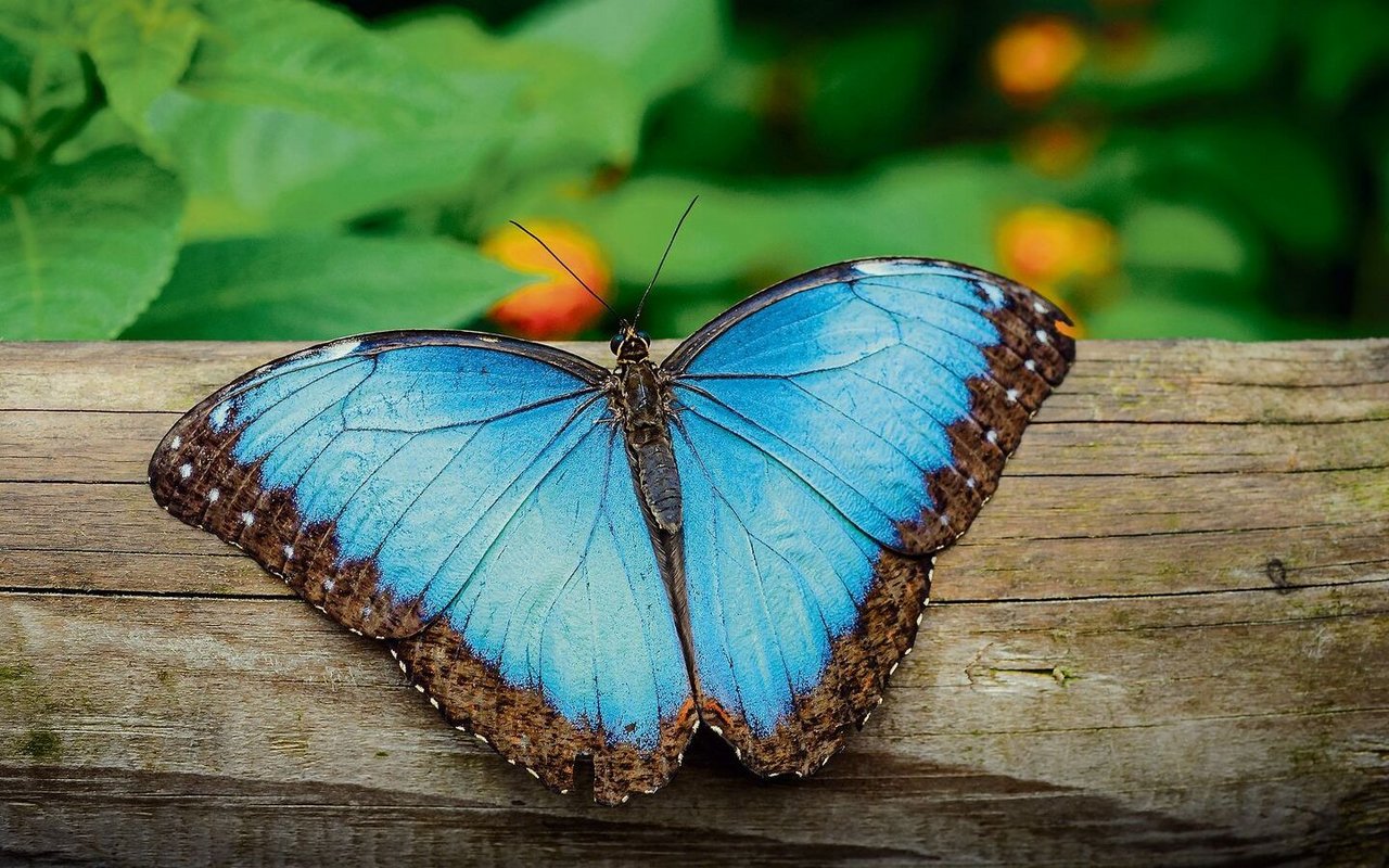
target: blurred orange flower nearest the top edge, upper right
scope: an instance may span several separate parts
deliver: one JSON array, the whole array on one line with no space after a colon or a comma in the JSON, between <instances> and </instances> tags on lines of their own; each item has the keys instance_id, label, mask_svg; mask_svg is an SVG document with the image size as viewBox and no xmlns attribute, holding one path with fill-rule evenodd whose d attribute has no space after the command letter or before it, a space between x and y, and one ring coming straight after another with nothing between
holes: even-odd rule
<instances>
[{"instance_id":1,"label":"blurred orange flower nearest the top edge, upper right","mask_svg":"<svg viewBox=\"0 0 1389 868\"><path fill-rule=\"evenodd\" d=\"M989 49L999 90L1014 103L1040 103L1071 81L1085 58L1085 40L1060 15L1008 25Z\"/></svg>"}]
</instances>

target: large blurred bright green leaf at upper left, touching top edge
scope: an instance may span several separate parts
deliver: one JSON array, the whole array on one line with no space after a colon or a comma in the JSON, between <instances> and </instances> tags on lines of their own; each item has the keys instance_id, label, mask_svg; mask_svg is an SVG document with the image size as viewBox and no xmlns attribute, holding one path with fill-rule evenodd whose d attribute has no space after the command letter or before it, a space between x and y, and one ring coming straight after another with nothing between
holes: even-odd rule
<instances>
[{"instance_id":1,"label":"large blurred bright green leaf at upper left, touching top edge","mask_svg":"<svg viewBox=\"0 0 1389 868\"><path fill-rule=\"evenodd\" d=\"M506 94L465 90L300 0L207 0L208 32L151 135L194 237L326 228L472 179L507 140Z\"/></svg>"}]
</instances>

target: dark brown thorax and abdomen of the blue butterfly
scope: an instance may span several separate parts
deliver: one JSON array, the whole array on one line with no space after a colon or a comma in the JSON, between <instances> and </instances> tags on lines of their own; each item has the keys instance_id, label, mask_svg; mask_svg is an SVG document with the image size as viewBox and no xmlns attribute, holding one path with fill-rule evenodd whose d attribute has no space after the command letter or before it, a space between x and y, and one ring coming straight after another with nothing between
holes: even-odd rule
<instances>
[{"instance_id":1,"label":"dark brown thorax and abdomen of the blue butterfly","mask_svg":"<svg viewBox=\"0 0 1389 868\"><path fill-rule=\"evenodd\" d=\"M656 526L681 528L681 479L675 469L668 421L669 386L649 358L621 358L614 372L613 408L626 433L626 454Z\"/></svg>"}]
</instances>

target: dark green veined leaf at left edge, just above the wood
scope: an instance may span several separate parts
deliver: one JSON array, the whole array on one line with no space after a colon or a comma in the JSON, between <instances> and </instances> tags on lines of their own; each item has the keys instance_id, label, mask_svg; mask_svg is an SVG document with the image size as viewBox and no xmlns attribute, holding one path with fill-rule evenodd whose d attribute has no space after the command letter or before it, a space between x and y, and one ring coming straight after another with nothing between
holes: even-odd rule
<instances>
[{"instance_id":1,"label":"dark green veined leaf at left edge, just above the wood","mask_svg":"<svg viewBox=\"0 0 1389 868\"><path fill-rule=\"evenodd\" d=\"M182 194L133 149L49 167L0 201L0 336L114 337L178 250Z\"/></svg>"}]
</instances>

